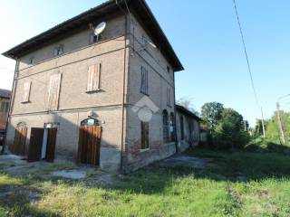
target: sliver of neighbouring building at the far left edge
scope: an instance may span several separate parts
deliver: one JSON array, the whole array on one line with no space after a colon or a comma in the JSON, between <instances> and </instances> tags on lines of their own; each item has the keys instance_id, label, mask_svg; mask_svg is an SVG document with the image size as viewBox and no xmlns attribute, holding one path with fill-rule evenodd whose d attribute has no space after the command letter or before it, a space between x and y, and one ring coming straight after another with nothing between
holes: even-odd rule
<instances>
[{"instance_id":1,"label":"sliver of neighbouring building at the far left edge","mask_svg":"<svg viewBox=\"0 0 290 217\"><path fill-rule=\"evenodd\" d=\"M10 97L10 90L0 89L0 130L6 128Z\"/></svg>"}]
</instances>

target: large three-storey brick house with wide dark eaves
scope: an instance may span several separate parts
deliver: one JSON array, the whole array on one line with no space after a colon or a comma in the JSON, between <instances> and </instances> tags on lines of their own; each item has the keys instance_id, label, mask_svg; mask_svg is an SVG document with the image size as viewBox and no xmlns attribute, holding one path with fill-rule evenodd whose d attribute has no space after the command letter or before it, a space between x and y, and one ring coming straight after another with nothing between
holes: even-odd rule
<instances>
[{"instance_id":1,"label":"large three-storey brick house with wide dark eaves","mask_svg":"<svg viewBox=\"0 0 290 217\"><path fill-rule=\"evenodd\" d=\"M174 73L183 67L144 0L107 1L4 55L16 61L14 154L126 172L176 152Z\"/></svg>"}]
</instances>

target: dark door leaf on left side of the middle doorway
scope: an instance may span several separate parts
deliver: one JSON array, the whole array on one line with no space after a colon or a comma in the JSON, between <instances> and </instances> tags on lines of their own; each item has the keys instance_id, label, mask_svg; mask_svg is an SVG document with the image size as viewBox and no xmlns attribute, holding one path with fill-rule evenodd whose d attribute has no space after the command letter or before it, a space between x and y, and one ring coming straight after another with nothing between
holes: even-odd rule
<instances>
[{"instance_id":1,"label":"dark door leaf on left side of the middle doorway","mask_svg":"<svg viewBox=\"0 0 290 217\"><path fill-rule=\"evenodd\" d=\"M30 144L28 147L28 162L39 161L42 156L43 128L31 128Z\"/></svg>"}]
</instances>

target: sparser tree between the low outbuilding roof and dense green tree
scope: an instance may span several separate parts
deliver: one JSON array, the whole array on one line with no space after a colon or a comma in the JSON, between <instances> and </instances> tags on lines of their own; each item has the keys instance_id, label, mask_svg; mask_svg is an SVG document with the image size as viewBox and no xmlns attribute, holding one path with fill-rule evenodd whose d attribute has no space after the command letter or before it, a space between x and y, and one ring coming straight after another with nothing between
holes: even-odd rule
<instances>
[{"instance_id":1,"label":"sparser tree between the low outbuilding roof and dense green tree","mask_svg":"<svg viewBox=\"0 0 290 217\"><path fill-rule=\"evenodd\" d=\"M208 102L201 107L201 117L205 120L206 127L211 133L218 124L223 110L224 105L219 102Z\"/></svg>"}]
</instances>

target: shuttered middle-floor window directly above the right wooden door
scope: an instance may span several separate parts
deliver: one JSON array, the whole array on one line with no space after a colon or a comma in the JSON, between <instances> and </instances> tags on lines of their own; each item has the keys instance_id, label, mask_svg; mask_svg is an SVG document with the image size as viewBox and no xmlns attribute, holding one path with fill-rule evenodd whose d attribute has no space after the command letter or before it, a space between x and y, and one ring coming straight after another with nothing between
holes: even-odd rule
<instances>
[{"instance_id":1,"label":"shuttered middle-floor window directly above the right wooden door","mask_svg":"<svg viewBox=\"0 0 290 217\"><path fill-rule=\"evenodd\" d=\"M89 67L87 92L97 91L101 89L101 72L102 63L95 64Z\"/></svg>"}]
</instances>

